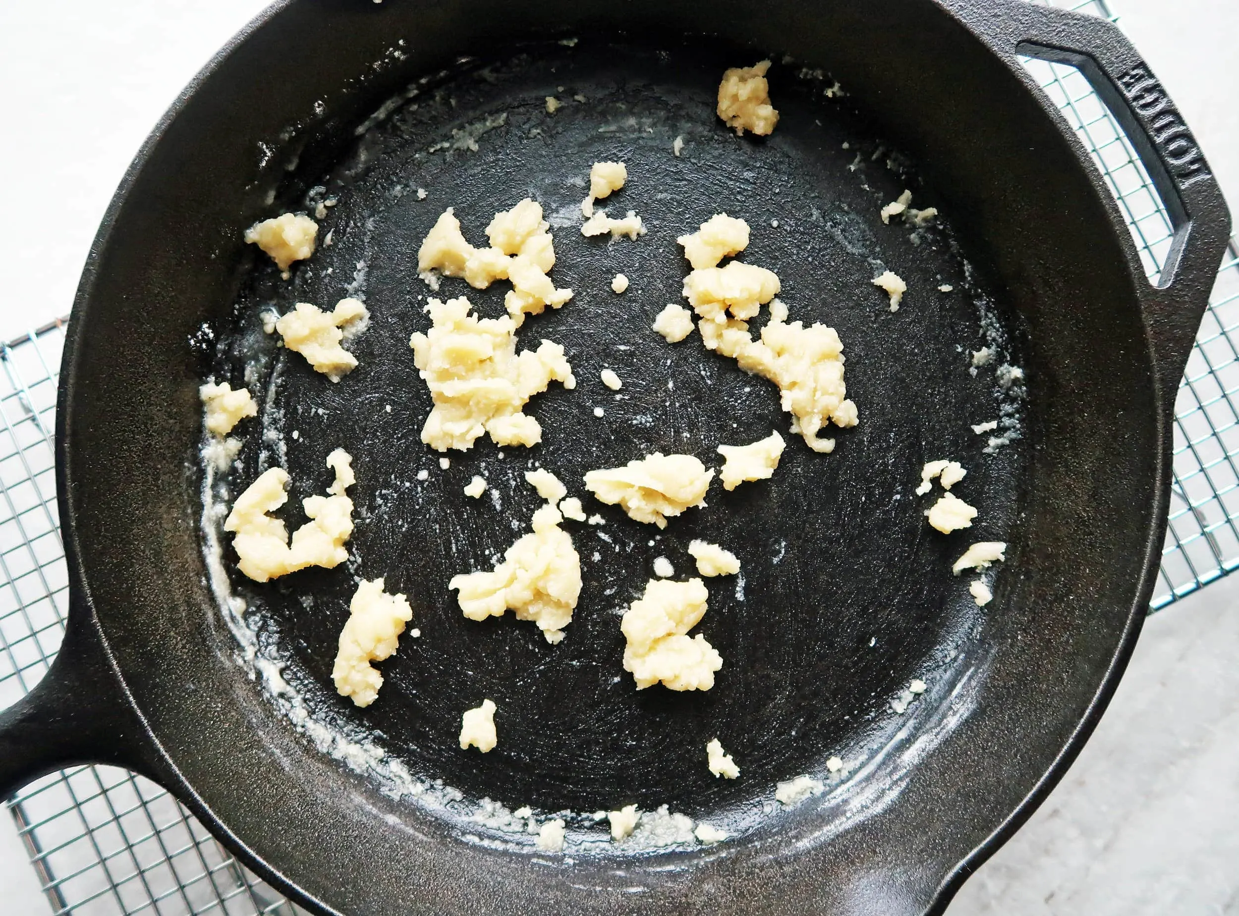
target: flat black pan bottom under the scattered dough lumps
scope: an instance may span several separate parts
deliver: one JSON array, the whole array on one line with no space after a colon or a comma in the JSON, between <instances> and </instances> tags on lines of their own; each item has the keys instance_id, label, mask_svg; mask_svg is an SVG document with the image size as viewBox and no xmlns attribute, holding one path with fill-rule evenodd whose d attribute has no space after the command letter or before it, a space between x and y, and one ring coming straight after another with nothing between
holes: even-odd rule
<instances>
[{"instance_id":1,"label":"flat black pan bottom under the scattered dough lumps","mask_svg":"<svg viewBox=\"0 0 1239 916\"><path fill-rule=\"evenodd\" d=\"M1009 571L989 573L996 598L981 611L968 593L975 577L953 577L950 563L974 541L1011 540L1031 433L1020 426L1020 385L1000 385L997 369L1021 364L1018 334L1007 332L1002 309L965 267L949 202L881 142L854 99L825 92L833 80L776 63L774 134L737 137L724 127L714 115L719 78L725 67L758 58L693 43L657 50L582 40L463 62L413 83L357 137L352 125L341 131L336 149L344 152L332 153L326 173L307 173L309 165L292 173L271 213L313 212L335 199L320 220L318 251L287 282L255 257L235 317L219 332L217 379L248 381L261 411L238 427L244 446L217 482L217 496L221 488L234 496L263 469L282 465L292 483L281 515L295 527L304 520L300 500L330 482L328 452L346 448L357 473L357 527L344 567L259 585L234 572L222 540L259 657L286 662L284 678L311 722L380 746L384 760L398 759L415 780L441 780L462 793L460 811L483 797L541 812L636 802L737 831L777 807L777 781L804 772L828 779L825 761L835 755L846 764L833 777L836 795L864 793L897 769L866 769L880 749L949 727L934 711L945 708L966 667L961 659L983 614L1002 613ZM554 114L548 95L563 103ZM322 157L309 150L302 163ZM596 160L627 163L627 186L603 204L612 215L639 213L648 227L639 240L580 234ZM322 187L305 197L311 184ZM878 209L904 188L914 207L939 207L943 218L921 230L898 219L882 224ZM540 446L501 457L479 439L468 452L447 453L442 469L440 454L419 439L431 401L409 335L429 327L422 306L435 293L418 279L416 250L447 207L481 245L494 212L524 197L541 203L555 234L551 277L575 297L529 318L520 345L561 343L579 385L553 384L530 402L544 430ZM675 238L719 212L752 227L741 259L779 275L792 319L826 323L844 342L860 425L836 431L833 454L815 454L788 432L773 384L706 352L696 333L672 345L649 328L665 303L680 301L688 262ZM871 283L885 269L908 283L898 312ZM610 288L617 272L632 282L623 295ZM479 314L497 317L507 286L477 291L444 280L437 295L467 295ZM370 323L349 344L359 366L338 384L261 329L273 306L326 309L348 295L364 298ZM985 345L997 348L996 358L970 371L971 350ZM621 391L603 387L603 368L623 380ZM1000 416L996 432L970 428ZM586 470L654 451L719 467L719 443L747 443L772 430L788 442L772 480L732 493L716 482L709 508L665 531L601 505L581 484ZM986 451L991 436L1011 441ZM948 536L926 524L940 489L930 496L913 490L922 464L935 458L968 469L953 493L980 509L971 529ZM586 512L606 519L564 525L585 584L566 637L554 646L512 614L463 619L447 589L456 573L489 569L528 531L540 500L523 473L535 465L559 475ZM481 500L462 493L475 474L489 483ZM206 530L217 531L218 516L204 517ZM740 577L706 581L710 609L694 630L719 650L724 667L709 692L637 691L621 665L620 614L653 576L655 557L670 560L675 578L695 574L685 547L696 537L721 543L743 564ZM405 633L379 666L379 699L359 711L336 696L331 667L358 578L380 576L389 592L408 595L420 637ZM891 701L913 678L929 689L898 715ZM462 751L461 713L483 698L498 706L498 746ZM289 696L276 702L287 708ZM316 725L309 734L331 744ZM740 779L706 769L705 744L715 737L735 756ZM455 810L449 805L446 814ZM484 833L476 824L468 832Z\"/></svg>"}]
</instances>

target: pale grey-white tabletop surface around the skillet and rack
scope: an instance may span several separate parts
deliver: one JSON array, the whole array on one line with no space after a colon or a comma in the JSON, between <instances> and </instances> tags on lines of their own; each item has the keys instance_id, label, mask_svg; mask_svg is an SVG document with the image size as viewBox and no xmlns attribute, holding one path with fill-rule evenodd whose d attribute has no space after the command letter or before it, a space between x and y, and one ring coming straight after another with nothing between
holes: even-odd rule
<instances>
[{"instance_id":1,"label":"pale grey-white tabletop surface around the skillet and rack","mask_svg":"<svg viewBox=\"0 0 1239 916\"><path fill-rule=\"evenodd\" d=\"M369 2L369 0L357 0ZM112 192L259 0L0 4L0 339L69 311ZM1239 4L1114 0L1239 201ZM1154 618L1097 735L953 916L1239 912L1239 581ZM50 912L7 814L0 910Z\"/></svg>"}]
</instances>

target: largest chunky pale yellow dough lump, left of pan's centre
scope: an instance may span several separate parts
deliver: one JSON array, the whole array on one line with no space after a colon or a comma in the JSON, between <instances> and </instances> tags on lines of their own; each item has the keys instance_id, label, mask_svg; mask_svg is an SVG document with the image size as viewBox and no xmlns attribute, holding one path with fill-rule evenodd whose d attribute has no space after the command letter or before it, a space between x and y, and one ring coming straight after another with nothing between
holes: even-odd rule
<instances>
[{"instance_id":1,"label":"largest chunky pale yellow dough lump, left of pan's centre","mask_svg":"<svg viewBox=\"0 0 1239 916\"><path fill-rule=\"evenodd\" d=\"M434 449L472 448L482 436L499 446L534 446L541 426L522 412L550 382L576 387L564 348L543 340L536 350L517 354L515 322L478 318L460 298L426 306L432 327L415 333L409 345L435 401L421 427L421 441Z\"/></svg>"}]
</instances>

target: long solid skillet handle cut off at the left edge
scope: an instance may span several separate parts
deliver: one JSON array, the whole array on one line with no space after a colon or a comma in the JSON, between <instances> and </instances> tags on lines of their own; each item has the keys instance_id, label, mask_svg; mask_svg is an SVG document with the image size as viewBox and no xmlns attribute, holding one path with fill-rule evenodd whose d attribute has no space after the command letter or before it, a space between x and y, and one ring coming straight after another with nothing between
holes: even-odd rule
<instances>
[{"instance_id":1,"label":"long solid skillet handle cut off at the left edge","mask_svg":"<svg viewBox=\"0 0 1239 916\"><path fill-rule=\"evenodd\" d=\"M0 798L76 764L150 774L154 744L104 649L93 618L69 613L51 670L0 712Z\"/></svg>"}]
</instances>

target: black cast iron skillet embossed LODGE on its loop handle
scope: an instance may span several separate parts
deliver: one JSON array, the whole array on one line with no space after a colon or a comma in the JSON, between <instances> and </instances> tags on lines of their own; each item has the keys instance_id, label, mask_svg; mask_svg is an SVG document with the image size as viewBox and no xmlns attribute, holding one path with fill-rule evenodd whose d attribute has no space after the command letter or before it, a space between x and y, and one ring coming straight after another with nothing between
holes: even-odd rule
<instances>
[{"instance_id":1,"label":"black cast iron skillet embossed LODGE on its loop handle","mask_svg":"<svg viewBox=\"0 0 1239 916\"><path fill-rule=\"evenodd\" d=\"M714 37L686 37L701 33ZM710 114L715 80L766 52L797 62L774 72L783 123L767 141L737 140ZM1144 280L1108 191L1017 53L1079 66L1127 127L1176 224L1160 286ZM802 64L825 68L851 102L824 98L830 79L795 79ZM541 98L559 84L586 102L550 118ZM366 120L395 93L384 119ZM426 152L499 111L508 120L476 152ZM689 146L675 158L679 134ZM844 141L866 153L867 189ZM919 172L885 168L878 144ZM555 276L579 297L524 332L563 342L581 389L535 401L540 449L501 459L479 444L439 472L416 442L429 401L405 343L426 324L418 239L446 205L473 238L529 193L548 212L575 205L580 189L565 182L603 155L628 161L613 205L641 212L650 233L600 245L560 228ZM325 219L336 244L281 285L238 229L302 205L325 177L339 198ZM405 193L422 182L425 202ZM876 219L904 183L916 205L945 214L919 245ZM646 326L684 274L674 235L716 209L757 227L745 257L778 270L793 318L839 328L861 425L829 457L788 437L776 480L715 490L710 510L658 538L610 512L622 550L605 561L607 542L574 529L582 560L598 550L600 561L586 562L558 647L510 619L461 620L442 583L510 543L506 520L534 506L518 475L532 460L572 484L655 447L710 458L719 441L786 432L769 387L695 338L618 349L649 344ZM767 229L771 213L782 234ZM1191 134L1125 40L1038 6L276 5L155 131L87 265L58 411L69 626L50 676L0 717L0 787L73 763L129 766L322 912L939 911L1062 776L1126 663L1165 530L1175 391L1228 224ZM869 283L881 266L912 285L897 314ZM618 270L638 280L624 298L606 290ZM957 290L933 292L943 282ZM348 283L374 318L354 347L362 366L338 386L255 343L259 303L330 306ZM493 313L496 291L470 295ZM968 373L964 345L983 342L983 316L1002 358L1023 366L1022 394L995 394L992 366ZM415 776L442 777L465 802L488 795L539 816L668 803L732 839L632 853L581 843L589 826L569 817L567 855L538 855L520 836L494 840L467 806L393 798L375 774L306 740L286 697L273 702L238 663L203 553L218 520L202 517L196 387L208 371L239 382L248 361L265 408L222 485L245 485L279 441L295 496L322 490L332 447L356 458L349 567L232 582L255 651L287 662L312 714L383 744ZM595 381L602 365L626 378L627 400ZM968 425L1004 404L1022 438L986 454ZM908 494L921 463L940 456L970 468L959 493L983 516L966 537L929 536ZM503 511L460 494L482 464ZM419 467L434 477L414 485ZM700 628L726 666L707 694L637 694L607 611L639 592L654 556L686 569L683 546L698 535L745 562L743 599L736 583L711 582ZM1010 543L985 613L945 572L983 537ZM366 713L328 680L358 576L406 592L424 633L384 665ZM912 677L929 691L897 718L888 701ZM486 758L452 748L460 711L482 696L502 711ZM741 780L705 772L701 748L716 734ZM852 766L826 793L766 811L776 781L823 774L836 753Z\"/></svg>"}]
</instances>

